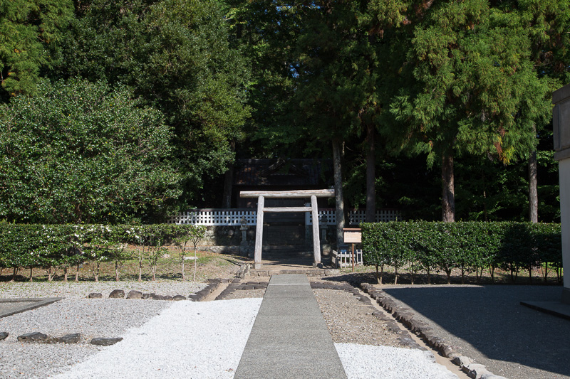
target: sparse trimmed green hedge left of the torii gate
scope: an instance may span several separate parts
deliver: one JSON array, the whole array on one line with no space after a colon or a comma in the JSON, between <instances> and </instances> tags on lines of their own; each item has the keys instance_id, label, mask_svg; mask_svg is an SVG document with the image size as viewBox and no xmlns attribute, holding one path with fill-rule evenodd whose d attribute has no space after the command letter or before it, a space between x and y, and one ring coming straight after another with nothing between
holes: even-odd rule
<instances>
[{"instance_id":1,"label":"sparse trimmed green hedge left of the torii gate","mask_svg":"<svg viewBox=\"0 0 570 379\"><path fill-rule=\"evenodd\" d=\"M139 279L142 262L148 262L155 279L158 258L165 252L166 242L180 247L180 264L184 278L184 250L204 237L202 225L29 225L0 223L0 268L13 268L14 277L20 267L45 268L48 280L52 270L91 263L98 280L100 262L115 262L118 280L125 260L138 259ZM135 250L128 248L135 245ZM77 270L78 271L78 270ZM77 274L76 274L77 275Z\"/></svg>"}]
</instances>

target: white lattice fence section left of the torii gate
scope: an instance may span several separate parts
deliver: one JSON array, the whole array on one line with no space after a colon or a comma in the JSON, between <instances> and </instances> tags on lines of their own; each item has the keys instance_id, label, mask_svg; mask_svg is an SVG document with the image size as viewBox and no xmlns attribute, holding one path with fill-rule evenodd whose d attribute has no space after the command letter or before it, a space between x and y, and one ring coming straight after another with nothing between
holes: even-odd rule
<instances>
[{"instance_id":1,"label":"white lattice fence section left of the torii gate","mask_svg":"<svg viewBox=\"0 0 570 379\"><path fill-rule=\"evenodd\" d=\"M167 223L192 225L256 225L257 212L247 209L193 209L172 216Z\"/></svg>"}]
</instances>

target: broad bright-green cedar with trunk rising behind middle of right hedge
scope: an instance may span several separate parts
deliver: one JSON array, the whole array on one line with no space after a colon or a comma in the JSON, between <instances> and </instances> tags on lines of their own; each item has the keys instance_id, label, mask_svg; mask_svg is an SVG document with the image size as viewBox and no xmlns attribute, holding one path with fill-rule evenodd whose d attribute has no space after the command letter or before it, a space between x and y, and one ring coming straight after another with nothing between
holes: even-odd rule
<instances>
[{"instance_id":1,"label":"broad bright-green cedar with trunk rising behind middle of right hedge","mask_svg":"<svg viewBox=\"0 0 570 379\"><path fill-rule=\"evenodd\" d=\"M441 163L442 220L455 220L455 156L492 154L508 164L535 148L535 124L550 106L530 47L521 14L484 0L434 5L415 28L408 60L417 86L392 111L408 149Z\"/></svg>"}]
</instances>

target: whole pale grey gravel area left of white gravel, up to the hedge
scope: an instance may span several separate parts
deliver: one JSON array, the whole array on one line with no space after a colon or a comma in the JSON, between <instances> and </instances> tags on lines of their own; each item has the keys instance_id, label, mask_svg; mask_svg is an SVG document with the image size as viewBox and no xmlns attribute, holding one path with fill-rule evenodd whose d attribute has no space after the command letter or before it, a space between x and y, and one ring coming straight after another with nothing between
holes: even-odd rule
<instances>
[{"instance_id":1,"label":"whole pale grey gravel area left of white gravel, up to the hedge","mask_svg":"<svg viewBox=\"0 0 570 379\"><path fill-rule=\"evenodd\" d=\"M94 337L123 336L128 329L142 326L152 317L175 304L173 301L134 299L86 299L90 292L104 297L113 289L174 295L205 287L190 282L51 282L1 283L0 297L66 297L56 303L0 319L0 331L8 338L0 341L0 378L46 378L69 365L84 361L102 348L89 344ZM39 331L61 337L81 333L77 344L21 343L16 338Z\"/></svg>"}]
</instances>

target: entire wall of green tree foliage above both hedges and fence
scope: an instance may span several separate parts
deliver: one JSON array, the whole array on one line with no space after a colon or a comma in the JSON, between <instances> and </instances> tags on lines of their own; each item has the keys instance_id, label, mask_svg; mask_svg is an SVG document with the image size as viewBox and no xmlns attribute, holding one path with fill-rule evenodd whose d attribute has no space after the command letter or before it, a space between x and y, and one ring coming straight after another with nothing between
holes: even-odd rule
<instances>
[{"instance_id":1,"label":"entire wall of green tree foliage above both hedges and fence","mask_svg":"<svg viewBox=\"0 0 570 379\"><path fill-rule=\"evenodd\" d=\"M4 1L0 219L157 220L219 206L236 156L336 151L346 208L369 202L372 186L377 208L410 219L445 210L447 220L522 221L537 150L539 220L558 221L550 95L570 82L569 27L569 0ZM76 119L71 129L39 114L68 101L51 87L78 80L81 94L93 92L80 96L91 99L87 114L140 124L130 137L162 124L163 149L146 161L118 149L107 164L123 138L105 139L111 127L80 131L83 110L61 108L61 119ZM93 101L101 86L132 106ZM31 133L38 141L52 128L69 134L20 146L18 129L4 126L26 122L44 129ZM71 134L98 158L67 144Z\"/></svg>"}]
</instances>

